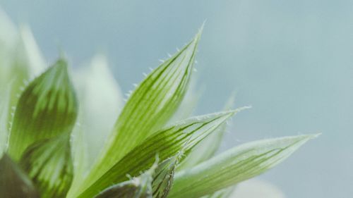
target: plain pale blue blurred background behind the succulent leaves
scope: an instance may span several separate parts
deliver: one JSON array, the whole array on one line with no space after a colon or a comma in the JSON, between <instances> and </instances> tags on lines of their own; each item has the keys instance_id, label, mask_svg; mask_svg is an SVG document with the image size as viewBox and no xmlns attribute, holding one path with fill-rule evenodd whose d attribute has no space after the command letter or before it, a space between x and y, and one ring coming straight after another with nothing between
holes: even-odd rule
<instances>
[{"instance_id":1,"label":"plain pale blue blurred background behind the succulent leaves","mask_svg":"<svg viewBox=\"0 0 353 198\"><path fill-rule=\"evenodd\" d=\"M265 137L323 132L262 176L287 197L353 195L353 1L4 1L29 23L44 55L57 46L74 66L105 51L127 92L157 59L207 19L198 113L221 109L230 92L253 109L233 119L224 148Z\"/></svg>"}]
</instances>

